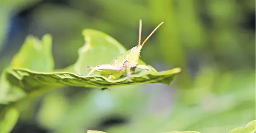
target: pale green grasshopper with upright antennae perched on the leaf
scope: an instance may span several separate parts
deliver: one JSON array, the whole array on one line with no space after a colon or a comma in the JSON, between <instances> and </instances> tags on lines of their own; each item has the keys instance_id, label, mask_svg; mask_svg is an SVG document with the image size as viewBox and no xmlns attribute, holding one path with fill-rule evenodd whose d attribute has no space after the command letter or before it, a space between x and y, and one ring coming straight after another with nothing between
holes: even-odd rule
<instances>
[{"instance_id":1,"label":"pale green grasshopper with upright antennae perched on the leaf","mask_svg":"<svg viewBox=\"0 0 256 133\"><path fill-rule=\"evenodd\" d=\"M127 75L128 81L131 81L130 75L135 72L135 69L142 69L145 71L150 71L150 68L146 65L138 64L140 59L140 52L142 46L145 42L152 36L152 34L163 24L161 22L145 39L141 44L141 33L142 33L142 20L139 20L139 38L137 46L134 46L132 49L126 51L122 55L119 55L114 59L110 64L101 64L95 67L87 66L87 71L90 71L87 76L90 76L92 73L99 73L100 75L106 76L109 79L117 79L123 75Z\"/></svg>"}]
</instances>

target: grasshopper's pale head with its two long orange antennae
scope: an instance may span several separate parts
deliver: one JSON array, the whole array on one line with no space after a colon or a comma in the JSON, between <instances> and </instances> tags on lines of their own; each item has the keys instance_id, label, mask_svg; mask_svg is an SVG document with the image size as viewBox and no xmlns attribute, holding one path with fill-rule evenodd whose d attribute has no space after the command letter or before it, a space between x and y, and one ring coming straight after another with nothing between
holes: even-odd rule
<instances>
[{"instance_id":1,"label":"grasshopper's pale head with its two long orange antennae","mask_svg":"<svg viewBox=\"0 0 256 133\"><path fill-rule=\"evenodd\" d=\"M140 25L139 25L139 42L138 45L133 47L131 49L131 52L128 55L128 62L130 62L130 65L137 65L138 61L140 59L140 52L141 49L143 47L143 45L145 44L145 42L149 39L149 37L152 36L152 34L156 31L157 28L159 28L161 26L161 24L163 24L164 22L161 22L149 35L148 37L142 42L141 44L141 32L142 32L142 20L140 19Z\"/></svg>"}]
</instances>

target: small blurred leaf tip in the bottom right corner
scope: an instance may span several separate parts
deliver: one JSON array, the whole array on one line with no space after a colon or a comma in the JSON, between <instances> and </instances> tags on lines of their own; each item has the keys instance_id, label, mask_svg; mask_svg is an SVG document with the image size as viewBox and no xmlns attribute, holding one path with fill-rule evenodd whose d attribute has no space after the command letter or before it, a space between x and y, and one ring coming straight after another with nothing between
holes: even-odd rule
<instances>
[{"instance_id":1,"label":"small blurred leaf tip in the bottom right corner","mask_svg":"<svg viewBox=\"0 0 256 133\"><path fill-rule=\"evenodd\" d=\"M256 124L256 121L253 120L249 122L245 128L234 128L228 133L256 133L255 124Z\"/></svg>"}]
</instances>

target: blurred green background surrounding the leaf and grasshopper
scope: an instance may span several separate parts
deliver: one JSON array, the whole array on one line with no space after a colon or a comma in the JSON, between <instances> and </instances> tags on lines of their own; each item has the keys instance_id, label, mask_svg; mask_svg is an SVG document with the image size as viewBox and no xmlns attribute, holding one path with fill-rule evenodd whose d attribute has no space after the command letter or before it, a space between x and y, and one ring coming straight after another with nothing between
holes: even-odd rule
<instances>
[{"instance_id":1,"label":"blurred green background surrounding the leaf and grasshopper","mask_svg":"<svg viewBox=\"0 0 256 133\"><path fill-rule=\"evenodd\" d=\"M255 17L255 0L0 0L1 71L28 35L52 35L55 69L76 62L85 28L130 49L140 18L142 40L165 22L141 59L157 71L182 69L170 87L48 92L24 104L12 133L228 133L244 127L255 119Z\"/></svg>"}]
</instances>

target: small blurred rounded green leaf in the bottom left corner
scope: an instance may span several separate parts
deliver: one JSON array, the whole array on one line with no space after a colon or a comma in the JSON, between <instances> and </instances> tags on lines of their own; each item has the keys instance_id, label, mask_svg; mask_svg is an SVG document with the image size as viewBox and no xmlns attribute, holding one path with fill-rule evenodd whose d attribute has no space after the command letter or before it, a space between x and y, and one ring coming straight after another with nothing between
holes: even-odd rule
<instances>
[{"instance_id":1,"label":"small blurred rounded green leaf in the bottom left corner","mask_svg":"<svg viewBox=\"0 0 256 133\"><path fill-rule=\"evenodd\" d=\"M7 107L0 113L0 133L10 133L19 118L19 111L14 107Z\"/></svg>"}]
</instances>

